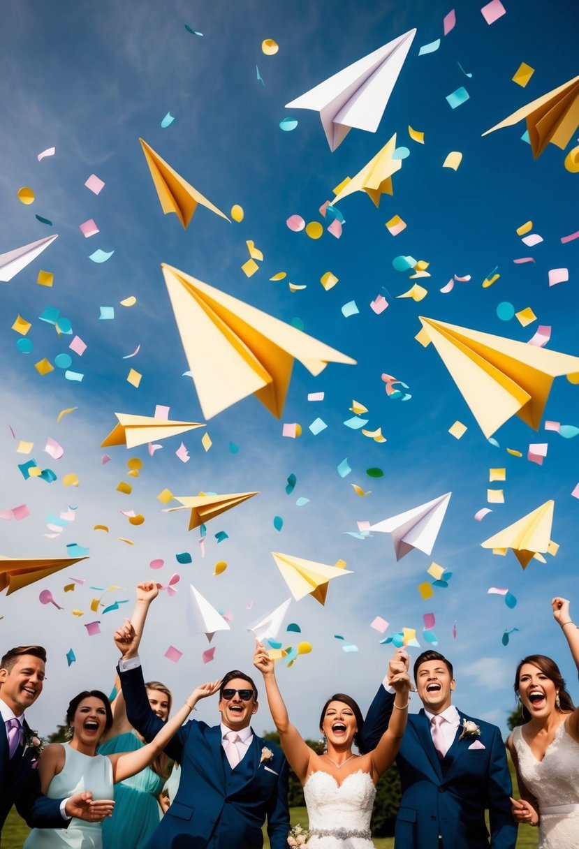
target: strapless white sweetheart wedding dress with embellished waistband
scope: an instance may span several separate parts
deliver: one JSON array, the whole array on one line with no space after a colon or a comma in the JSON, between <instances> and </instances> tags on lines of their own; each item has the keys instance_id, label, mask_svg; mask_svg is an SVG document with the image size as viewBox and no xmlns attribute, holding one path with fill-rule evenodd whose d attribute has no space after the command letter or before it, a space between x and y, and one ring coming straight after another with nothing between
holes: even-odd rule
<instances>
[{"instance_id":1,"label":"strapless white sweetheart wedding dress with embellished waistband","mask_svg":"<svg viewBox=\"0 0 579 849\"><path fill-rule=\"evenodd\" d=\"M338 784L329 773L310 773L304 784L308 849L374 849L370 818L376 788L361 769Z\"/></svg>"}]
</instances>

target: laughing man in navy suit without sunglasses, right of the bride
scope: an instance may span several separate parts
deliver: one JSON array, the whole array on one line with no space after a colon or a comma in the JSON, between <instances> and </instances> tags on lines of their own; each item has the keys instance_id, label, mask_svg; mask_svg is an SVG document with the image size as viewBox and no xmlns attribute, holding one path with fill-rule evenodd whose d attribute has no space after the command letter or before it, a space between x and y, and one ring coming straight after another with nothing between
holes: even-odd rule
<instances>
[{"instance_id":1,"label":"laughing man in navy suit without sunglasses, right of the bride","mask_svg":"<svg viewBox=\"0 0 579 849\"><path fill-rule=\"evenodd\" d=\"M408 714L396 757L402 781L396 849L514 849L512 785L499 729L453 706L453 665L437 651L419 655L414 680L424 707ZM366 751L387 726L393 702L381 686L363 727Z\"/></svg>"}]
</instances>

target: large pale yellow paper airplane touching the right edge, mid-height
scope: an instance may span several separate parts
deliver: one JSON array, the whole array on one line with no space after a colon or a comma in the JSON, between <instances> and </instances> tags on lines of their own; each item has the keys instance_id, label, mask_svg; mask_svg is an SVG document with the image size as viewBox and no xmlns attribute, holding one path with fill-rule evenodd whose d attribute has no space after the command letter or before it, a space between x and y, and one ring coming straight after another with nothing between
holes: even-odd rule
<instances>
[{"instance_id":1,"label":"large pale yellow paper airplane touching the right edge, mid-height","mask_svg":"<svg viewBox=\"0 0 579 849\"><path fill-rule=\"evenodd\" d=\"M538 430L553 379L579 372L579 357L419 318L487 439L513 415Z\"/></svg>"}]
</instances>

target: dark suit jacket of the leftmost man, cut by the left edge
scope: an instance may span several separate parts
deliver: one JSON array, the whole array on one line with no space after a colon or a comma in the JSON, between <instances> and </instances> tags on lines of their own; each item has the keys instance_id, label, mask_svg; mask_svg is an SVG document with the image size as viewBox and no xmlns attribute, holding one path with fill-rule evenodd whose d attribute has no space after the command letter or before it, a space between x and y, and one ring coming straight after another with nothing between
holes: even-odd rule
<instances>
[{"instance_id":1,"label":"dark suit jacket of the leftmost man, cut by the left edge","mask_svg":"<svg viewBox=\"0 0 579 849\"><path fill-rule=\"evenodd\" d=\"M31 734L26 722L24 730L25 734ZM64 829L68 824L60 814L62 800L42 796L38 772L33 768L36 758L36 753L29 748L10 761L8 738L0 728L0 831L13 805L31 828Z\"/></svg>"}]
</instances>

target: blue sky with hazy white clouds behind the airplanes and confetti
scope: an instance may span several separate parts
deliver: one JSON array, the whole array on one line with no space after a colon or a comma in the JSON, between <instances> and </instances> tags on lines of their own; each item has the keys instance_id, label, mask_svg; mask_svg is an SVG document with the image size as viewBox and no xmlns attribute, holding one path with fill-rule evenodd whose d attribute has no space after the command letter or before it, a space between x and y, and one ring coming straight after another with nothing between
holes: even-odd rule
<instances>
[{"instance_id":1,"label":"blue sky with hazy white clouds behind the airplanes and confetti","mask_svg":"<svg viewBox=\"0 0 579 849\"><path fill-rule=\"evenodd\" d=\"M48 648L49 682L31 717L42 732L62 721L78 690L106 690L112 681L116 652L110 636L132 601L98 616L102 633L89 638L84 624L97 618L89 605L98 596L90 587L115 584L121 589L111 599L132 599L138 580L166 583L173 572L181 576L177 595L170 599L162 593L155 603L142 654L147 674L184 698L200 680L231 667L250 667L252 639L245 628L290 594L273 550L327 564L341 558L353 573L330 583L324 607L309 597L290 607L286 624L297 622L301 638L313 646L312 654L290 669L281 664L279 671L304 734L317 734L318 706L336 689L368 705L390 651L369 627L375 616L391 623L387 633L417 628L427 648L423 616L434 613L439 649L455 664L458 706L503 728L514 707L511 678L522 655L553 655L574 682L549 600L563 594L579 601L579 503L571 497L579 481L576 441L535 433L514 418L495 434L499 447L492 446L433 346L423 349L414 336L419 315L520 341L530 339L540 323L552 326L548 347L579 355L579 239L560 242L579 228L577 177L565 170L565 152L553 145L533 160L520 138L524 124L481 138L521 105L576 75L577 11L571 2L505 0L507 14L489 26L482 2L457 2L457 25L443 37L442 19L450 5L438 0L3 4L0 252L51 233L59 233L59 239L1 284L0 509L26 503L31 514L0 523L0 550L14 557L63 557L66 543L90 548L90 559L72 570L0 599L3 645L41 642ZM203 37L190 34L185 24ZM376 133L352 130L332 154L316 113L284 109L413 27L417 35ZM419 56L421 45L439 37L436 53ZM276 55L261 52L264 38L278 42ZM521 62L536 69L526 88L511 79ZM256 65L265 86L256 78ZM469 100L451 110L446 97L461 86ZM175 121L161 128L168 111ZM293 132L278 126L287 115L298 121ZM424 132L424 145L408 137L408 125ZM410 155L394 176L392 197L383 195L379 209L365 194L343 200L346 224L339 240L327 232L318 241L290 232L285 224L290 215L323 222L318 209L331 199L332 188L359 171L394 132L397 145L408 147ZM568 149L576 145L576 135ZM200 207L183 230L176 216L163 216L139 137L220 209L228 213L233 204L241 205L244 221L229 224ZM38 162L37 154L52 146L55 155ZM441 167L451 150L464 155L456 172ZM84 186L92 173L105 183L98 196ZM20 203L21 186L33 188L32 205ZM408 227L392 237L385 222L395 214ZM53 225L38 222L36 215ZM100 232L85 239L79 225L89 218ZM528 220L543 238L531 248L515 233ZM248 256L246 239L264 254L252 278L240 270ZM95 264L88 256L98 248L115 253ZM431 277L419 281L428 290L420 303L396 300L413 283L392 267L400 255L430 262ZM522 256L536 261L514 264ZM155 404L163 404L171 408L171 418L203 421L194 386L183 377L188 363L160 262L285 322L300 319L307 333L354 357L357 366L329 365L313 378L295 363L282 419L274 419L255 397L247 398L207 424L209 452L200 443L205 430L183 436L187 464L175 456L179 437L164 441L152 458L146 447L112 448L110 463L101 464L99 444L114 426L115 412L149 415ZM495 267L500 278L483 289L483 279ZM557 267L569 268L569 282L549 288L548 270ZM37 284L39 269L53 272L52 288ZM280 271L288 277L270 282ZM339 278L329 291L319 283L327 271ZM453 274L470 274L471 280L441 294ZM291 293L288 280L306 289ZM375 315L369 303L383 288L390 306ZM137 304L121 306L130 295ZM352 300L359 313L345 318L340 308ZM526 328L516 318L502 321L497 305L503 301L517 311L531 306L537 321ZM53 362L70 343L70 336L58 336L52 325L38 320L46 306L70 318L74 333L87 344L82 357L72 355L71 368L84 374L81 383L65 380L59 368L42 377L34 368L42 357ZM100 306L114 306L115 318L99 320ZM32 323L27 338L34 349L28 355L15 347L18 336L11 325L18 313ZM124 360L138 345L138 355ZM131 367L143 375L138 389L126 382ZM408 384L412 398L388 398L383 373ZM324 391L323 402L307 402L312 391ZM384 444L344 426L352 399L368 408L368 426L381 426ZM59 412L70 407L76 411L57 423ZM308 425L318 416L328 427L312 436ZM456 419L468 426L460 441L447 432ZM579 424L576 386L555 380L543 419ZM299 422L301 438L282 437L284 422ZM64 447L62 459L53 461L43 452L48 436ZM20 440L34 442L27 457L16 453ZM230 441L238 453L230 452ZM548 442L542 466L526 459L531 442ZM509 456L507 447L523 457ZM126 477L131 457L143 459L137 480ZM336 467L346 457L352 472L342 479ZM25 481L18 464L30 458L53 469L58 480ZM505 503L491 505L493 512L479 523L473 515L486 506L488 469L503 466ZM368 477L371 467L383 469L384 476ZM62 485L68 473L78 475L78 488ZM290 474L297 485L288 496ZM121 480L132 482L130 496L116 492ZM372 492L359 498L351 483ZM208 524L201 558L199 533L187 531L186 514L161 512L156 496L164 488L177 495L261 494ZM449 491L453 497L432 557L414 551L396 563L388 535L365 540L345 535L357 530L359 520L378 522ZM296 506L300 497L309 503ZM523 572L512 554L496 557L480 547L549 498L555 501L556 558L546 565L533 561ZM58 539L44 537L47 515L59 515L69 505L76 508L74 523ZM130 509L145 516L142 526L131 526L120 513ZM273 527L275 515L284 519L282 531ZM109 526L110 533L94 531L98 524ZM217 544L214 534L222 530L229 538ZM177 564L175 554L183 551L193 555L191 565ZM149 568L155 558L165 560L160 571ZM227 571L213 576L222 559ZM427 579L432 560L453 578L447 589L438 588L423 601L417 585ZM70 575L87 583L65 593ZM189 582L233 615L231 632L214 638L216 658L208 666L201 662L205 637L188 636ZM514 610L487 595L492 586L509 587L518 599ZM63 610L39 603L43 588ZM85 610L84 616L72 616L75 608ZM514 627L519 631L504 647L503 632ZM335 634L356 644L358 652L345 653ZM280 639L284 645L296 642L294 633ZM177 665L164 657L169 644L183 651ZM70 648L77 661L68 668ZM576 694L576 684L571 692ZM216 706L204 705L200 715L211 720L215 711ZM262 705L256 730L267 728L271 719Z\"/></svg>"}]
</instances>

